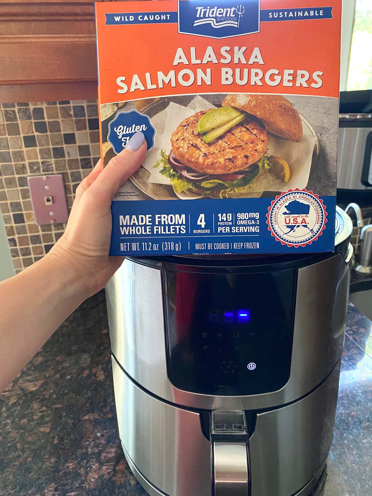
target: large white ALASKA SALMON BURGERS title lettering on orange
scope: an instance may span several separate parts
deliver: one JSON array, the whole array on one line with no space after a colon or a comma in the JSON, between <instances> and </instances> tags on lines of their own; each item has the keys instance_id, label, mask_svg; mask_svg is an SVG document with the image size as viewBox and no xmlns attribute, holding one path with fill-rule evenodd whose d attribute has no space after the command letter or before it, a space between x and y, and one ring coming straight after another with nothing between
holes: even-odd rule
<instances>
[{"instance_id":1,"label":"large white ALASKA SALMON BURGERS title lettering on orange","mask_svg":"<svg viewBox=\"0 0 372 496\"><path fill-rule=\"evenodd\" d=\"M258 47L254 47L251 52L248 52L248 47L221 47L217 52L212 47L207 47L204 53L197 53L195 47L190 47L186 54L182 48L178 48L174 57L173 65L193 65L193 64L230 64L239 65L235 70L231 67L221 67L221 84L231 85L237 83L240 86L303 86L305 88L321 88L323 85L323 71L316 70L310 74L304 69L284 69L280 71L276 68L262 70L259 65L264 65L261 51ZM242 65L253 65L253 68L242 67ZM258 66L257 66L258 65ZM211 86L212 85L212 70L210 67L204 68L183 68L176 72L171 69L165 73L158 70L155 74L145 72L143 75L133 74L131 78L119 76L116 80L119 86L118 93L124 94L128 91L134 93L136 91L153 90L164 88L169 85L175 88L180 86ZM128 83L128 84L127 84Z\"/></svg>"}]
</instances>

